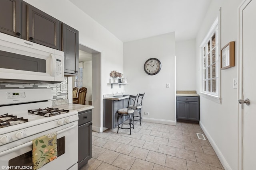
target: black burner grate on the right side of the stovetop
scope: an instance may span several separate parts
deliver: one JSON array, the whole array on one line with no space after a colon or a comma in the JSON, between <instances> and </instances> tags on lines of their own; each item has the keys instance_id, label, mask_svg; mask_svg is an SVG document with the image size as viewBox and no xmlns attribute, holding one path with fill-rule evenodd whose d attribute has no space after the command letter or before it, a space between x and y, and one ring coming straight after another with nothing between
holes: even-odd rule
<instances>
[{"instance_id":1,"label":"black burner grate on the right side of the stovetop","mask_svg":"<svg viewBox=\"0 0 256 170\"><path fill-rule=\"evenodd\" d=\"M46 107L45 109L33 109L33 110L28 110L28 113L32 113L32 114L36 114L36 115L41 115L41 116L45 116L45 117L51 117L51 116L55 116L55 115L60 115L63 113L68 113L69 110L64 110L64 109L58 109L58 108L49 108Z\"/></svg>"}]
</instances>

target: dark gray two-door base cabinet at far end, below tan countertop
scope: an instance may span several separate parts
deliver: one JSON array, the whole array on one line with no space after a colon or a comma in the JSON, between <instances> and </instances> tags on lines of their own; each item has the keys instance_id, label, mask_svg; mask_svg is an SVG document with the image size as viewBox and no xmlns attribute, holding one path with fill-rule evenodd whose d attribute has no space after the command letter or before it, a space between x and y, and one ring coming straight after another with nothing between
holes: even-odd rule
<instances>
[{"instance_id":1,"label":"dark gray two-door base cabinet at far end, below tan countertop","mask_svg":"<svg viewBox=\"0 0 256 170\"><path fill-rule=\"evenodd\" d=\"M177 96L177 121L190 121L198 123L199 96Z\"/></svg>"}]
</instances>

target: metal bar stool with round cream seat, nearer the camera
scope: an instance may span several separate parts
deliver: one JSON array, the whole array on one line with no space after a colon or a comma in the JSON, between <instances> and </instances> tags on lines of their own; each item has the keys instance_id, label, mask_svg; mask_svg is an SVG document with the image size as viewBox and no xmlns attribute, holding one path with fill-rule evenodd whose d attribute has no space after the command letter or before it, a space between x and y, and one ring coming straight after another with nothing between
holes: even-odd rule
<instances>
[{"instance_id":1,"label":"metal bar stool with round cream seat, nearer the camera","mask_svg":"<svg viewBox=\"0 0 256 170\"><path fill-rule=\"evenodd\" d=\"M136 94L136 96L134 95L130 95L128 103L133 103L133 107L127 107L124 109L119 109L117 111L118 116L117 116L117 123L118 123L118 129L117 129L117 133L119 131L119 128L121 129L130 129L130 135L132 135L132 128L134 129L134 122L133 122L133 118L134 118L134 105L135 105L135 101L137 98L138 94ZM127 116L129 119L129 122L123 122L123 116ZM119 119L121 118L121 122L119 123ZM123 124L128 124L130 127L123 127ZM121 127L120 127L121 125Z\"/></svg>"}]
</instances>

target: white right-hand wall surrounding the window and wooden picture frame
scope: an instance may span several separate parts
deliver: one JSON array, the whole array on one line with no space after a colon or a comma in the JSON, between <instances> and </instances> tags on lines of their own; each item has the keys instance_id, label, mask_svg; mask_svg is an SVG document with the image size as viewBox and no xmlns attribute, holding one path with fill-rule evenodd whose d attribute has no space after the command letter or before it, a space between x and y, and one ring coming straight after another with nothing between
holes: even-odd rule
<instances>
[{"instance_id":1,"label":"white right-hand wall surrounding the window and wooden picture frame","mask_svg":"<svg viewBox=\"0 0 256 170\"><path fill-rule=\"evenodd\" d=\"M196 37L196 90L201 91L202 61L200 43L206 36L221 7L220 47L235 41L236 66L220 71L221 104L200 96L200 124L225 169L238 169L238 92L232 80L237 78L238 6L242 0L213 0Z\"/></svg>"}]
</instances>

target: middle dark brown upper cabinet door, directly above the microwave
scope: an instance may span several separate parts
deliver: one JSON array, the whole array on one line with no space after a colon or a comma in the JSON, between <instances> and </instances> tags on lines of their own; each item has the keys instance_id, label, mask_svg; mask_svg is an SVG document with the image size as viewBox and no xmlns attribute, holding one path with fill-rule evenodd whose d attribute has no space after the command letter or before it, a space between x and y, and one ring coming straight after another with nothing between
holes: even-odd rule
<instances>
[{"instance_id":1,"label":"middle dark brown upper cabinet door, directly above the microwave","mask_svg":"<svg viewBox=\"0 0 256 170\"><path fill-rule=\"evenodd\" d=\"M29 4L27 14L27 40L60 50L60 21Z\"/></svg>"}]
</instances>

